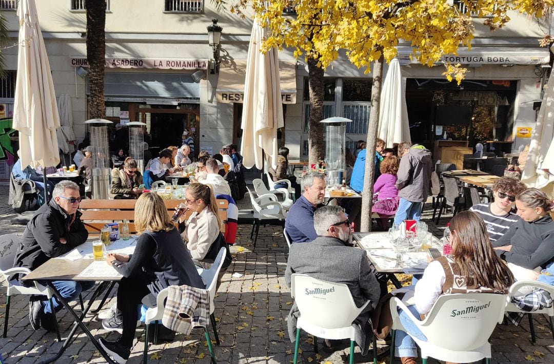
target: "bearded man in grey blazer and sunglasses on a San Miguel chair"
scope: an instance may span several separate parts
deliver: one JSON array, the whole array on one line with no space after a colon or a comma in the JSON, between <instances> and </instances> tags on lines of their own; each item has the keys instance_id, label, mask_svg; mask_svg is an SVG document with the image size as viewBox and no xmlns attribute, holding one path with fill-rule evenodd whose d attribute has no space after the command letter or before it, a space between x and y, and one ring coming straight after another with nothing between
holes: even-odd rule
<instances>
[{"instance_id":1,"label":"bearded man in grey blazer and sunglasses on a San Miguel chair","mask_svg":"<svg viewBox=\"0 0 554 364\"><path fill-rule=\"evenodd\" d=\"M352 231L343 208L324 206L317 209L314 213L314 228L318 235L315 240L290 246L285 271L286 285L290 288L291 275L294 273L307 274L316 279L346 284L358 307L370 300L370 305L367 305L366 310L352 324L356 327L356 343L362 348L362 355L366 355L371 340L368 320L379 297L387 293L386 284L383 284L385 291L381 292L377 272L367 259L366 251L351 245ZM288 319L291 342L296 339L298 317L299 311L295 303ZM332 343L327 340L324 345L332 347Z\"/></svg>"}]
</instances>

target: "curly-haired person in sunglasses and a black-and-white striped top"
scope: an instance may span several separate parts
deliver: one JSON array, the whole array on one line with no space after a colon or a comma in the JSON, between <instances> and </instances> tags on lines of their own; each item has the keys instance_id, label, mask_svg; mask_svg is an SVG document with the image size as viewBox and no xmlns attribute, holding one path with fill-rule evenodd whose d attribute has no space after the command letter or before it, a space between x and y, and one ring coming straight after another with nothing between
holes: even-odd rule
<instances>
[{"instance_id":1,"label":"curly-haired person in sunglasses and a black-and-white striped top","mask_svg":"<svg viewBox=\"0 0 554 364\"><path fill-rule=\"evenodd\" d=\"M521 220L514 209L515 196L525 188L524 184L514 178L502 177L494 182L492 203L471 206L470 210L478 213L485 221L491 241L498 240L506 234L510 226Z\"/></svg>"}]
</instances>

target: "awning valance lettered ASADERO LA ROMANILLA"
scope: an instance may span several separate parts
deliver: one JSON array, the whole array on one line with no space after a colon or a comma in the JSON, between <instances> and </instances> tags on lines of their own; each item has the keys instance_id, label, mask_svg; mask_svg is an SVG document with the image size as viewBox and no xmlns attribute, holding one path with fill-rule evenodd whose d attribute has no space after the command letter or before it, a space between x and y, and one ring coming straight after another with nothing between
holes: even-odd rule
<instances>
[{"instance_id":1,"label":"awning valance lettered ASADERO LA ROMANILLA","mask_svg":"<svg viewBox=\"0 0 554 364\"><path fill-rule=\"evenodd\" d=\"M70 57L72 67L89 67L86 57ZM208 69L207 59L108 58L106 68Z\"/></svg>"}]
</instances>

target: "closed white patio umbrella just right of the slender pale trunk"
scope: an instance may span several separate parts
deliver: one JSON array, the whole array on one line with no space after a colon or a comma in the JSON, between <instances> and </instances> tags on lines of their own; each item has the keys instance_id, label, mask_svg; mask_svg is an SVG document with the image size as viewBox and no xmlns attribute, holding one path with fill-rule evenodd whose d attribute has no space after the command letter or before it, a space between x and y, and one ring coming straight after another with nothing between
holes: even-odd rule
<instances>
[{"instance_id":1,"label":"closed white patio umbrella just right of the slender pale trunk","mask_svg":"<svg viewBox=\"0 0 554 364\"><path fill-rule=\"evenodd\" d=\"M387 148L392 148L394 143L412 141L408 123L406 92L402 87L400 63L396 58L392 59L388 65L387 76L381 90L377 136L385 141Z\"/></svg>"}]
</instances>

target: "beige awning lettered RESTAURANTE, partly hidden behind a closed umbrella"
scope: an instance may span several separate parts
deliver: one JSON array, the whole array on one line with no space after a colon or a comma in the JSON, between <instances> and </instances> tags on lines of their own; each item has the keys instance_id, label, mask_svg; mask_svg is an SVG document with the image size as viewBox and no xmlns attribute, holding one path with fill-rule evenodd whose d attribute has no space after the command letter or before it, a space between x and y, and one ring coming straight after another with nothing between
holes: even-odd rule
<instances>
[{"instance_id":1,"label":"beige awning lettered RESTAURANTE, partly hidden behind a closed umbrella","mask_svg":"<svg viewBox=\"0 0 554 364\"><path fill-rule=\"evenodd\" d=\"M222 64L219 68L217 100L221 103L242 103L244 98L244 77L246 59L235 60L232 64ZM281 98L284 104L296 103L296 61L280 60Z\"/></svg>"}]
</instances>

